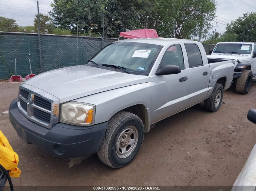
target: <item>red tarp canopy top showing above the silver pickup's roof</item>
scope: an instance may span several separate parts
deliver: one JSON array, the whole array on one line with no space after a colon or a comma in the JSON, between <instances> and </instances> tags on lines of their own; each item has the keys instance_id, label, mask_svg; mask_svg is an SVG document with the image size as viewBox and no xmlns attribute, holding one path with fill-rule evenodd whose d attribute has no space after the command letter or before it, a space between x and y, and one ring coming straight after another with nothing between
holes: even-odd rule
<instances>
[{"instance_id":1,"label":"red tarp canopy top showing above the silver pickup's roof","mask_svg":"<svg viewBox=\"0 0 256 191\"><path fill-rule=\"evenodd\" d=\"M125 38L159 38L155 29L138 29L120 32L119 36Z\"/></svg>"}]
</instances>

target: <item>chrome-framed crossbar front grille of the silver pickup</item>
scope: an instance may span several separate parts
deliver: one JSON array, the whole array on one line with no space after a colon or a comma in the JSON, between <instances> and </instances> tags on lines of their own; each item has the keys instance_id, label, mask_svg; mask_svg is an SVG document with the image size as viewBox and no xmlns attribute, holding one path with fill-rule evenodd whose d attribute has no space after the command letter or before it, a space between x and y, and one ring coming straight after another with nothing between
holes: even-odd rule
<instances>
[{"instance_id":1,"label":"chrome-framed crossbar front grille of the silver pickup","mask_svg":"<svg viewBox=\"0 0 256 191\"><path fill-rule=\"evenodd\" d=\"M34 86L22 84L18 110L29 120L51 129L58 123L59 99Z\"/></svg>"}]
</instances>

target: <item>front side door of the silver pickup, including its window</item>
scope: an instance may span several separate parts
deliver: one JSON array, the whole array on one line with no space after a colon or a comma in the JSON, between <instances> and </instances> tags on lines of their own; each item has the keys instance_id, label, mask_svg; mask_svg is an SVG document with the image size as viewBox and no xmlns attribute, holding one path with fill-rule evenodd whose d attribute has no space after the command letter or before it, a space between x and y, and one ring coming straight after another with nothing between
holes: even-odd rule
<instances>
[{"instance_id":1,"label":"front side door of the silver pickup, including its window","mask_svg":"<svg viewBox=\"0 0 256 191\"><path fill-rule=\"evenodd\" d=\"M184 66L181 45L168 47L159 68L168 64L179 66L181 73L150 77L151 123L184 110L188 103L188 69Z\"/></svg>"}]
</instances>

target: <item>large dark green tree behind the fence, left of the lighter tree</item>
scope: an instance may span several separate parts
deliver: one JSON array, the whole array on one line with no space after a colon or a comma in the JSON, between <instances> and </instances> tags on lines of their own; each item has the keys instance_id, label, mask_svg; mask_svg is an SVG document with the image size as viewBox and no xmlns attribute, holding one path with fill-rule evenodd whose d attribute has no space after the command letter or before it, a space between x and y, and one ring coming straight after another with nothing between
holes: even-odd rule
<instances>
[{"instance_id":1,"label":"large dark green tree behind the fence, left of the lighter tree","mask_svg":"<svg viewBox=\"0 0 256 191\"><path fill-rule=\"evenodd\" d=\"M57 26L74 34L102 34L104 27L105 36L117 37L121 31L137 29L136 18L145 5L145 0L54 0L49 14Z\"/></svg>"}]
</instances>

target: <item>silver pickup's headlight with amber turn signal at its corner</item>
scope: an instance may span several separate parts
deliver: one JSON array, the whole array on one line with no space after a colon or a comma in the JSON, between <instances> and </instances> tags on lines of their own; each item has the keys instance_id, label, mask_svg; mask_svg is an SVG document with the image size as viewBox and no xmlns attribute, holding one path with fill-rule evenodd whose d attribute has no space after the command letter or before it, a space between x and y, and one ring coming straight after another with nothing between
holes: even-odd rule
<instances>
[{"instance_id":1,"label":"silver pickup's headlight with amber turn signal at its corner","mask_svg":"<svg viewBox=\"0 0 256 191\"><path fill-rule=\"evenodd\" d=\"M95 106L87 103L68 102L61 105L61 119L63 123L86 125L93 123Z\"/></svg>"}]
</instances>

